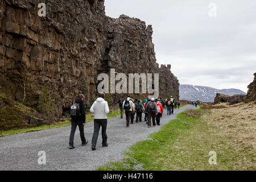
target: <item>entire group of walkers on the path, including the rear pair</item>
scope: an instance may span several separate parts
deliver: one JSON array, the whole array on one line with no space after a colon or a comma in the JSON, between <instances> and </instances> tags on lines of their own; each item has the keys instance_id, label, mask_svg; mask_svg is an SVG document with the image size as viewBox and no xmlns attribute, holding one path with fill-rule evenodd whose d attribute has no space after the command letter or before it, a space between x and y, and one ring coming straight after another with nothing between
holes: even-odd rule
<instances>
[{"instance_id":1,"label":"entire group of walkers on the path, including the rear pair","mask_svg":"<svg viewBox=\"0 0 256 182\"><path fill-rule=\"evenodd\" d=\"M79 94L76 101L73 102L71 106L71 134L69 136L69 149L74 147L74 136L77 126L79 126L80 138L82 141L82 146L85 146L88 143L88 140L85 139L84 126L85 126L85 96ZM108 147L107 139L108 135L106 134L106 127L108 123L107 116L109 114L108 102L104 100L105 94L99 93L97 100L90 107L90 112L94 113L94 133L92 137L92 150L96 150L96 144L98 140L98 134L101 127L102 133L102 147ZM149 100L144 99L138 100L128 96L126 99L122 96L118 101L119 107L121 109L121 118L123 118L123 112L125 111L126 116L126 127L130 127L130 123L133 124L134 118L135 122L142 122L142 113L144 113L144 121L147 123L147 126L150 128L151 123L153 126L160 125L160 118L163 114L163 109L167 109L167 115L174 114L174 108L180 107L180 102L175 102L172 96L164 102L162 98ZM136 117L135 117L136 114Z\"/></svg>"}]
</instances>

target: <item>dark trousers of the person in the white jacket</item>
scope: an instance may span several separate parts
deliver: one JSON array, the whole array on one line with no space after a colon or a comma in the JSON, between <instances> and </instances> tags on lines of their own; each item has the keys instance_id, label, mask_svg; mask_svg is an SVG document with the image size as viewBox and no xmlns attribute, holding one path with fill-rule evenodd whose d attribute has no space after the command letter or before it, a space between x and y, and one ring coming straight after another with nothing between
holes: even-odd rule
<instances>
[{"instance_id":1,"label":"dark trousers of the person in the white jacket","mask_svg":"<svg viewBox=\"0 0 256 182\"><path fill-rule=\"evenodd\" d=\"M96 147L100 127L101 127L101 135L102 135L102 146L106 145L107 139L108 139L108 135L106 134L107 124L108 124L107 119L94 119L94 133L93 133L93 139L92 139L92 147Z\"/></svg>"}]
</instances>

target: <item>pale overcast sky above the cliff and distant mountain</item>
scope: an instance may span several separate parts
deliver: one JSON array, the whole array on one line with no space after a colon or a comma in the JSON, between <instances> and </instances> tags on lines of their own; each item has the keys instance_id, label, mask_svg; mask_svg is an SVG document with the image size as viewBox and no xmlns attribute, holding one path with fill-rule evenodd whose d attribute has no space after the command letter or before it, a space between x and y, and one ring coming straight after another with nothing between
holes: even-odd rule
<instances>
[{"instance_id":1,"label":"pale overcast sky above the cliff and distant mountain","mask_svg":"<svg viewBox=\"0 0 256 182\"><path fill-rule=\"evenodd\" d=\"M217 6L209 16L209 4ZM247 92L256 72L255 0L105 0L106 15L152 24L156 60L180 84Z\"/></svg>"}]
</instances>

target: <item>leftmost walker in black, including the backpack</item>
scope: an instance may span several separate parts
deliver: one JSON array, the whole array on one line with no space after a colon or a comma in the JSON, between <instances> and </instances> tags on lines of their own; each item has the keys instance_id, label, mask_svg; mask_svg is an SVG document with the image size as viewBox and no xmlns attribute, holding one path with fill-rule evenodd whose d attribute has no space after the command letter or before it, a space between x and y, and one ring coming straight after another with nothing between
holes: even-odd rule
<instances>
[{"instance_id":1,"label":"leftmost walker in black, including the backpack","mask_svg":"<svg viewBox=\"0 0 256 182\"><path fill-rule=\"evenodd\" d=\"M71 115L71 133L69 136L69 149L74 147L74 137L77 125L79 126L80 138L82 141L82 146L85 146L88 143L88 140L85 139L84 135L84 126L85 126L85 103L84 95L79 94L78 98L73 105L71 106L70 115Z\"/></svg>"}]
</instances>

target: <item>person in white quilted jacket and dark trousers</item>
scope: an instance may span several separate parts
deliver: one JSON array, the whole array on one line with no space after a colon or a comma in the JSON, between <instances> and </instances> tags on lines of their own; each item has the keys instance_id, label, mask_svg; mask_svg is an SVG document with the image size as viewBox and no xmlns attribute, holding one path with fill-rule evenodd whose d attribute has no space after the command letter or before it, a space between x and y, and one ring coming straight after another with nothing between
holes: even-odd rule
<instances>
[{"instance_id":1,"label":"person in white quilted jacket and dark trousers","mask_svg":"<svg viewBox=\"0 0 256 182\"><path fill-rule=\"evenodd\" d=\"M90 112L94 113L94 133L92 139L92 150L96 150L100 127L102 133L102 147L108 147L108 135L106 134L106 127L108 123L107 115L109 114L109 105L108 102L104 100L104 98L105 94L99 93L97 100L93 103L92 107L90 107Z\"/></svg>"}]
</instances>

